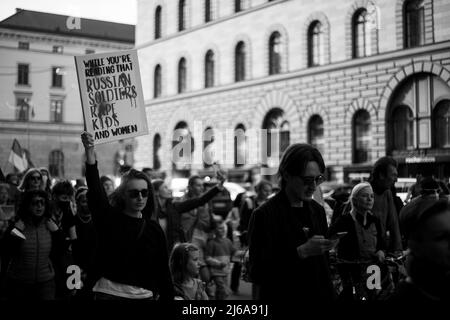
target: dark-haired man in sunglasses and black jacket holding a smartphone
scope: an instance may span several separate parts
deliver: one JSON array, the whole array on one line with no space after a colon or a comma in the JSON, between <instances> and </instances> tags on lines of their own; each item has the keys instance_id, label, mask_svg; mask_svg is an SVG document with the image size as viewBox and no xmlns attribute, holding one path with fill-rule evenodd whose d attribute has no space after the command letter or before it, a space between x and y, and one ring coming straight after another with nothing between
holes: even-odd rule
<instances>
[{"instance_id":1,"label":"dark-haired man in sunglasses and black jacket holding a smartphone","mask_svg":"<svg viewBox=\"0 0 450 320\"><path fill-rule=\"evenodd\" d=\"M308 144L293 144L279 165L281 190L256 209L249 227L249 272L262 300L331 301L335 294L327 220L313 200L325 164Z\"/></svg>"}]
</instances>

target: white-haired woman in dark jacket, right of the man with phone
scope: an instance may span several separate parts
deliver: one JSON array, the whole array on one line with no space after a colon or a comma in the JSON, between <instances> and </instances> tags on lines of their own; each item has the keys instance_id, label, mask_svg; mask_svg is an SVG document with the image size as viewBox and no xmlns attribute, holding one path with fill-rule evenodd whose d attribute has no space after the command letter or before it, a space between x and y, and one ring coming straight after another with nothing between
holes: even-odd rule
<instances>
[{"instance_id":1,"label":"white-haired woman in dark jacket, right of the man with phone","mask_svg":"<svg viewBox=\"0 0 450 320\"><path fill-rule=\"evenodd\" d=\"M339 259L355 262L339 264L343 282L343 296L351 297L352 286L361 283L362 269L369 264L384 261L385 243L379 219L372 213L374 193L367 182L357 184L349 198L351 210L340 216L330 227L329 235L347 233L337 246ZM361 263L359 263L361 262Z\"/></svg>"}]
</instances>

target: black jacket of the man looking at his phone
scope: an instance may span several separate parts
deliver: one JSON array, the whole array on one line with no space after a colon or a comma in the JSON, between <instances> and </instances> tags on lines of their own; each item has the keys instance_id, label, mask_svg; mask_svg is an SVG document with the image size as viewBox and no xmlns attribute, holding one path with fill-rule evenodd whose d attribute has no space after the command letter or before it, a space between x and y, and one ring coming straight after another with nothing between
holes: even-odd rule
<instances>
[{"instance_id":1,"label":"black jacket of the man looking at his phone","mask_svg":"<svg viewBox=\"0 0 450 320\"><path fill-rule=\"evenodd\" d=\"M249 272L262 300L331 301L328 257L300 259L297 247L327 233L325 211L315 201L291 208L284 191L257 208L249 226Z\"/></svg>"}]
</instances>

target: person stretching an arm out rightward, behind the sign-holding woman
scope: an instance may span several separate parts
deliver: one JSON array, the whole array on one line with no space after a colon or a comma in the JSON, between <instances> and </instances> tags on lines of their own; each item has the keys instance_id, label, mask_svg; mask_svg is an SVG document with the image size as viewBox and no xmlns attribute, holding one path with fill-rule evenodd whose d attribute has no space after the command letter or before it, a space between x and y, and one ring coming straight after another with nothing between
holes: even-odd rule
<instances>
[{"instance_id":1,"label":"person stretching an arm out rightward, behind the sign-holding woman","mask_svg":"<svg viewBox=\"0 0 450 320\"><path fill-rule=\"evenodd\" d=\"M214 198L222 190L225 182L221 175L218 175L217 179L220 181L219 184L207 192L199 192L198 196L176 201L173 201L172 192L164 180L155 179L152 181L157 200L158 221L166 234L169 252L172 251L175 243L188 240L181 226L181 214L195 210Z\"/></svg>"}]
</instances>

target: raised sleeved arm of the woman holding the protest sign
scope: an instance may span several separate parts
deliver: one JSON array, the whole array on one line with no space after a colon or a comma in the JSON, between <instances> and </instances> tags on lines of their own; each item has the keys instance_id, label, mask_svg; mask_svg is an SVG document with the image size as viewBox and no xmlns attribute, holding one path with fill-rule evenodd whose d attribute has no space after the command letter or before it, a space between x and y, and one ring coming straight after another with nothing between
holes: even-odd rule
<instances>
[{"instance_id":1,"label":"raised sleeved arm of the woman holding the protest sign","mask_svg":"<svg viewBox=\"0 0 450 320\"><path fill-rule=\"evenodd\" d=\"M94 223L100 222L102 217L111 210L108 197L100 182L97 168L97 159L94 152L94 137L88 132L81 134L84 150L86 152L86 183L88 185L88 206Z\"/></svg>"}]
</instances>

